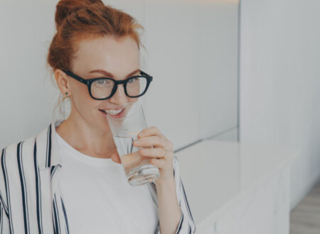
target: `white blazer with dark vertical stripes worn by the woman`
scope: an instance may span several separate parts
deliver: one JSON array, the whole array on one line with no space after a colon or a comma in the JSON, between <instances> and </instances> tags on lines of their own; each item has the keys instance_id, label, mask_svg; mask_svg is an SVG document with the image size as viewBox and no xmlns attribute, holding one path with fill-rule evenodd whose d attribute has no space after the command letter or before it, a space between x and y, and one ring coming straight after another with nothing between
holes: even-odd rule
<instances>
[{"instance_id":1,"label":"white blazer with dark vertical stripes worn by the woman","mask_svg":"<svg viewBox=\"0 0 320 234\"><path fill-rule=\"evenodd\" d=\"M68 210L65 210L58 186L62 167L55 139L57 123L52 122L38 135L1 150L0 233L69 233ZM176 156L174 177L181 208L176 233L195 233L196 225L179 175ZM154 202L158 204L154 182L149 183L148 187ZM161 233L159 221L154 233Z\"/></svg>"}]
</instances>

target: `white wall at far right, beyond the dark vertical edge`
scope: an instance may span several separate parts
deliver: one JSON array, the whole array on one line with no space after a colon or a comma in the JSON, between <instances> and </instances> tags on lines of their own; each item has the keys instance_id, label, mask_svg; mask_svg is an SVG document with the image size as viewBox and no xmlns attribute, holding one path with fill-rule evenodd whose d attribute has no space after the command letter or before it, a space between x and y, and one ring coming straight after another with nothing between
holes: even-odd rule
<instances>
[{"instance_id":1,"label":"white wall at far right, beyond the dark vertical edge","mask_svg":"<svg viewBox=\"0 0 320 234\"><path fill-rule=\"evenodd\" d=\"M291 208L320 176L320 1L240 3L240 141L296 145Z\"/></svg>"}]
</instances>

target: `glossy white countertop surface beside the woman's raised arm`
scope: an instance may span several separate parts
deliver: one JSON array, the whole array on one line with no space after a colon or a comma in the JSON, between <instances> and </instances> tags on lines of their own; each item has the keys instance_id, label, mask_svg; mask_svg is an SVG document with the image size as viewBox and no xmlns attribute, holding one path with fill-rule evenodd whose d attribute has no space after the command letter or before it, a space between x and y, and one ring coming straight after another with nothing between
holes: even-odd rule
<instances>
[{"instance_id":1,"label":"glossy white countertop surface beside the woman's raised arm","mask_svg":"<svg viewBox=\"0 0 320 234\"><path fill-rule=\"evenodd\" d=\"M197 233L298 155L292 146L203 140L176 152Z\"/></svg>"}]
</instances>

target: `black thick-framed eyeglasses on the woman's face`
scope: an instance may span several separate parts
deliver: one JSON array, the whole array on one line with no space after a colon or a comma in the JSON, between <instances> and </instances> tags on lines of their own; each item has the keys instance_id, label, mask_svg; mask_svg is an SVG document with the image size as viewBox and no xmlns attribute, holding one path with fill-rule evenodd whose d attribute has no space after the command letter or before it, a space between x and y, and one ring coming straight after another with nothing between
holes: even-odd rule
<instances>
[{"instance_id":1,"label":"black thick-framed eyeglasses on the woman's face","mask_svg":"<svg viewBox=\"0 0 320 234\"><path fill-rule=\"evenodd\" d=\"M90 96L92 99L96 100L110 99L117 91L118 84L123 84L124 93L127 96L137 98L146 93L146 90L149 88L150 82L152 81L152 77L141 70L139 75L124 80L115 80L109 77L84 79L70 70L65 71L63 69L63 72L79 82L86 84Z\"/></svg>"}]
</instances>

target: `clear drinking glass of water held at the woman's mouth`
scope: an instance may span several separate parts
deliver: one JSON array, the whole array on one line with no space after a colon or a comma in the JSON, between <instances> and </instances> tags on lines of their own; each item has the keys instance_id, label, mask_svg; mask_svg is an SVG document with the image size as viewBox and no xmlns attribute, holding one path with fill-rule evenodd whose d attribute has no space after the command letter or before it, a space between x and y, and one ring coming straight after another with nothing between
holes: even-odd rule
<instances>
[{"instance_id":1,"label":"clear drinking glass of water held at the woman's mouth","mask_svg":"<svg viewBox=\"0 0 320 234\"><path fill-rule=\"evenodd\" d=\"M151 157L139 153L140 147L133 145L138 133L147 128L142 104L138 101L129 102L118 105L115 109L123 111L116 116L107 113L107 121L129 184L154 182L160 175L159 168L151 165Z\"/></svg>"}]
</instances>

